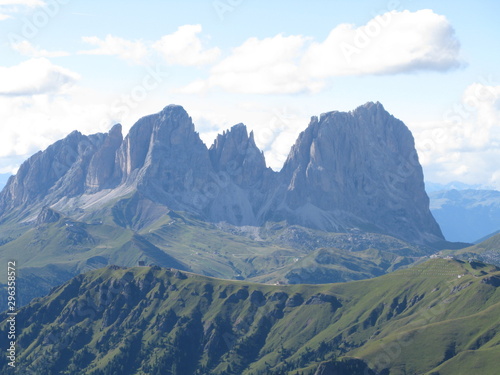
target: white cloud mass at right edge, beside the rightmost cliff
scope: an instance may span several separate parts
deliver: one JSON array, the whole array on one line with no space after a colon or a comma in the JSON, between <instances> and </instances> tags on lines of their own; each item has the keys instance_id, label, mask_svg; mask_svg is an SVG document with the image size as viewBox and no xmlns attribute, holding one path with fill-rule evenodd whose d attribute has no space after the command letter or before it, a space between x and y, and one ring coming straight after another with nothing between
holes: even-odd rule
<instances>
[{"instance_id":1,"label":"white cloud mass at right edge, beside the rightmost cliff","mask_svg":"<svg viewBox=\"0 0 500 375\"><path fill-rule=\"evenodd\" d=\"M486 181L500 189L500 86L473 83L442 121L412 130L428 181Z\"/></svg>"}]
</instances>

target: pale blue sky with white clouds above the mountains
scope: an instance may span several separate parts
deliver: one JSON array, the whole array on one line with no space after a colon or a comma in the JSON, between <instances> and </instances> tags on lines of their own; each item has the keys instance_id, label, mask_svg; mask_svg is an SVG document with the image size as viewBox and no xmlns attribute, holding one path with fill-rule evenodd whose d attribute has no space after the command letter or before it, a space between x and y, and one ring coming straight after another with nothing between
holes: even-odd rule
<instances>
[{"instance_id":1,"label":"pale blue sky with white clouds above the mountains","mask_svg":"<svg viewBox=\"0 0 500 375\"><path fill-rule=\"evenodd\" d=\"M500 189L500 2L0 0L0 173L182 105L279 170L311 118L379 101L426 181Z\"/></svg>"}]
</instances>

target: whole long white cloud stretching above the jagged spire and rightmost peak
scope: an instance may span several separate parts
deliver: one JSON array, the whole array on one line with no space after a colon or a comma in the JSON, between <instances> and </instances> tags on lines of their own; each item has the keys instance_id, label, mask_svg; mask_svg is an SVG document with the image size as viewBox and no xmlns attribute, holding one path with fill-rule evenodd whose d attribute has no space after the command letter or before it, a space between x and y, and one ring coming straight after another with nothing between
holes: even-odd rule
<instances>
[{"instance_id":1,"label":"whole long white cloud stretching above the jagged spire and rightmost peak","mask_svg":"<svg viewBox=\"0 0 500 375\"><path fill-rule=\"evenodd\" d=\"M462 64L459 54L446 17L432 10L391 11L360 27L338 25L322 42L300 35L250 38L213 66L207 79L181 92L315 92L336 76L446 71Z\"/></svg>"}]
</instances>

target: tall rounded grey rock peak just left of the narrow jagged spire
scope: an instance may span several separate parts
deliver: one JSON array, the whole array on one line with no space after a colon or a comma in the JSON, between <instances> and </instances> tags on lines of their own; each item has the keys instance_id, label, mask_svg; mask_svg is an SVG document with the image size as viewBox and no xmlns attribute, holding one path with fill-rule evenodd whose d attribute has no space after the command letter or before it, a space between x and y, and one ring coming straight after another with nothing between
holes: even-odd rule
<instances>
[{"instance_id":1,"label":"tall rounded grey rock peak just left of the narrow jagged spire","mask_svg":"<svg viewBox=\"0 0 500 375\"><path fill-rule=\"evenodd\" d=\"M208 150L186 111L177 105L140 119L118 149L115 177L148 199L194 210L196 193L212 171Z\"/></svg>"}]
</instances>

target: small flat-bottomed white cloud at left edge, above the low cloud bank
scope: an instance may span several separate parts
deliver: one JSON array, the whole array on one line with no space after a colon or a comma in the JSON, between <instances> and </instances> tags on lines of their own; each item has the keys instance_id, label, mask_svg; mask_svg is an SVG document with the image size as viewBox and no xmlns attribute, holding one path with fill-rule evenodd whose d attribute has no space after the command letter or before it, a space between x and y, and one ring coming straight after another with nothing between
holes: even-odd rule
<instances>
[{"instance_id":1,"label":"small flat-bottomed white cloud at left edge, above the low cloud bank","mask_svg":"<svg viewBox=\"0 0 500 375\"><path fill-rule=\"evenodd\" d=\"M12 67L0 67L0 95L57 93L72 86L79 78L78 74L54 65L46 58L34 58Z\"/></svg>"}]
</instances>

